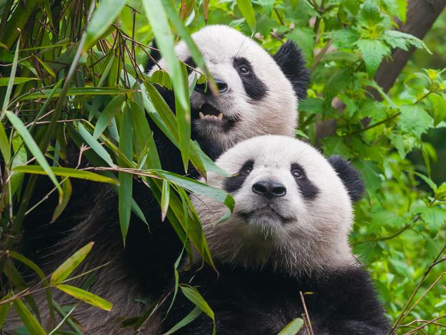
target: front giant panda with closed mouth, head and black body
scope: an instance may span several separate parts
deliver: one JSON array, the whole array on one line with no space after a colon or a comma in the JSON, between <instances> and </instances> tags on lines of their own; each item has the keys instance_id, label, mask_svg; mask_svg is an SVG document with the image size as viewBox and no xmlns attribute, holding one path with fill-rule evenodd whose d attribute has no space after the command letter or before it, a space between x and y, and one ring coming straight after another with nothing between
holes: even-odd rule
<instances>
[{"instance_id":1,"label":"front giant panda with closed mouth, head and black body","mask_svg":"<svg viewBox=\"0 0 446 335\"><path fill-rule=\"evenodd\" d=\"M341 157L325 159L303 141L274 135L237 143L216 163L231 176L209 174L207 183L232 194L231 217L220 222L227 208L215 200L191 200L218 272L196 257L179 282L198 288L217 334L273 335L303 314L312 333L298 334L386 334L382 305L348 242L352 204L364 191L357 170ZM167 332L193 307L178 293L153 334ZM211 334L212 328L202 313L175 334Z\"/></svg>"}]
</instances>

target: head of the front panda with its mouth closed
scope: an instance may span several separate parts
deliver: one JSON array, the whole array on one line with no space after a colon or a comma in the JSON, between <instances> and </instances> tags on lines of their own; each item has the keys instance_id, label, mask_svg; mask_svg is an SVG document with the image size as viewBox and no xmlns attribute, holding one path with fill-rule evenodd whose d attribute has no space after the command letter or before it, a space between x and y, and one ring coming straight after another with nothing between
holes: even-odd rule
<instances>
[{"instance_id":1,"label":"head of the front panda with its mouth closed","mask_svg":"<svg viewBox=\"0 0 446 335\"><path fill-rule=\"evenodd\" d=\"M348 235L364 185L349 162L266 135L238 143L216 163L230 176L209 174L207 183L232 194L231 218L219 223L227 209L215 200L192 200L218 262L296 276L355 265Z\"/></svg>"}]
</instances>

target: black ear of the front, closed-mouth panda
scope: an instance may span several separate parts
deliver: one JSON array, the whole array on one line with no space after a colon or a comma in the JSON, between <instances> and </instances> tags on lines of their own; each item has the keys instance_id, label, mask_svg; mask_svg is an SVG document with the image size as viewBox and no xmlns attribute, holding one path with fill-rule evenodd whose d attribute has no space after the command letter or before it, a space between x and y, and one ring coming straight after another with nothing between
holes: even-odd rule
<instances>
[{"instance_id":1,"label":"black ear of the front, closed-mouth panda","mask_svg":"<svg viewBox=\"0 0 446 335\"><path fill-rule=\"evenodd\" d=\"M339 178L341 178L342 183L347 187L351 201L355 203L357 200L360 200L365 189L360 172L347 159L343 159L338 155L329 157L328 161Z\"/></svg>"}]
</instances>

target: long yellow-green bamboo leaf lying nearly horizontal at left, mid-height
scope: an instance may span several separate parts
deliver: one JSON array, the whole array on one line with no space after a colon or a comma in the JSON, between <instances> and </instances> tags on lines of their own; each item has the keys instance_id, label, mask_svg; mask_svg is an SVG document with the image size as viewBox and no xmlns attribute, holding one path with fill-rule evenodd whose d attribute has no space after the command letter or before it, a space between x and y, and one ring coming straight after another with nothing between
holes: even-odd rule
<instances>
[{"instance_id":1,"label":"long yellow-green bamboo leaf lying nearly horizontal at left, mid-height","mask_svg":"<svg viewBox=\"0 0 446 335\"><path fill-rule=\"evenodd\" d=\"M97 181L98 183L110 183L119 185L119 182L115 178L102 176L101 174L95 174L93 172L77 170L71 167L50 167L51 171L56 176L64 176L78 179L85 179L87 181ZM32 173L32 174L46 174L45 170L38 165L22 165L16 166L12 171Z\"/></svg>"}]
</instances>

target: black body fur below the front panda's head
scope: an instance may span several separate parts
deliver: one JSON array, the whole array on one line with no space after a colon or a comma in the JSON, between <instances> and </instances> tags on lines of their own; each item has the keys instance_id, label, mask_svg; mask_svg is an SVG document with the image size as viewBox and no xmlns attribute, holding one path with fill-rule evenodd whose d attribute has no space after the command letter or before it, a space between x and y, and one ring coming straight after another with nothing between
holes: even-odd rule
<instances>
[{"instance_id":1,"label":"black body fur below the front panda's head","mask_svg":"<svg viewBox=\"0 0 446 335\"><path fill-rule=\"evenodd\" d=\"M198 272L193 268L180 275L180 282L193 278L189 284L198 288L212 308L219 335L277 334L305 313L299 292L304 294L314 334L384 335L389 329L371 279L362 268L294 278L270 269L216 265L220 275L209 266ZM169 330L192 309L193 304L178 294L161 331ZM212 321L202 313L175 334L211 333ZM307 333L303 329L298 334Z\"/></svg>"}]
</instances>

